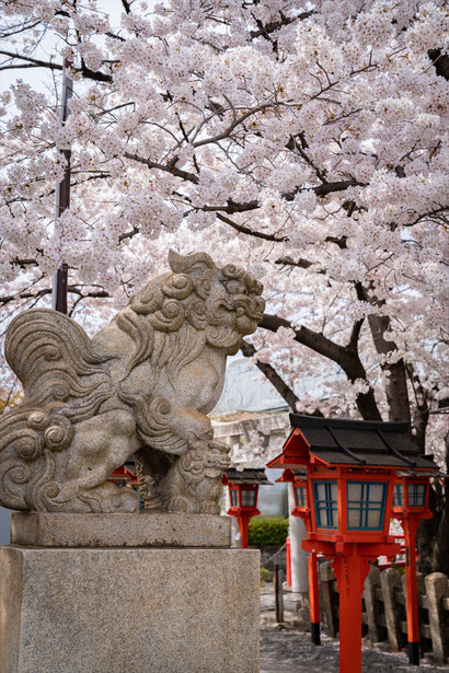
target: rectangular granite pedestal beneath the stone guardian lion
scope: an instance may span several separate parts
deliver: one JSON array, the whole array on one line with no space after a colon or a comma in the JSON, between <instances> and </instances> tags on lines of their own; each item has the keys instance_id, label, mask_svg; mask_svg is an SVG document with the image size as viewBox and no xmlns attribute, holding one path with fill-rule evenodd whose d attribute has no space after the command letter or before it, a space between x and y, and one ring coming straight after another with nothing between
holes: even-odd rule
<instances>
[{"instance_id":1,"label":"rectangular granite pedestal beneath the stone guardian lion","mask_svg":"<svg viewBox=\"0 0 449 673\"><path fill-rule=\"evenodd\" d=\"M129 535L123 517L137 520ZM163 535L161 518L172 526ZM258 552L225 546L227 518L14 519L15 544L0 547L2 673L258 672ZM67 543L65 522L82 547L23 544ZM200 522L208 547L199 545ZM111 546L114 526L126 548ZM170 546L156 546L161 539Z\"/></svg>"}]
</instances>

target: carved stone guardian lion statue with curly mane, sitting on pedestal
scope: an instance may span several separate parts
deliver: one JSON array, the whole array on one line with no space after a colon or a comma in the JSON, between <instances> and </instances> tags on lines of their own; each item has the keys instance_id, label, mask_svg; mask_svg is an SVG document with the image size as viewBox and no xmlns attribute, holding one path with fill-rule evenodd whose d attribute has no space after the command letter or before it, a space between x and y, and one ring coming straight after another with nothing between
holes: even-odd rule
<instances>
[{"instance_id":1,"label":"carved stone guardian lion statue with curly mane, sitting on pedestal","mask_svg":"<svg viewBox=\"0 0 449 673\"><path fill-rule=\"evenodd\" d=\"M262 285L205 253L170 251L169 264L92 339L47 309L11 322L5 357L25 398L0 416L1 504L136 511L138 494L107 481L134 454L146 508L219 513L229 448L206 414L262 318Z\"/></svg>"}]
</instances>

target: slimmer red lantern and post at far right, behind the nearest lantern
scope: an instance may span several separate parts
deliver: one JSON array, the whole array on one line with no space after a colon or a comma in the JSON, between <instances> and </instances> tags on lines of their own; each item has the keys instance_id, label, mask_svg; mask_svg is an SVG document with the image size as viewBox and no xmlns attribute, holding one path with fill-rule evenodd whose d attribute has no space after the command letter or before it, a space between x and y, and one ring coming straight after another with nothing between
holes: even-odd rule
<instances>
[{"instance_id":1,"label":"slimmer red lantern and post at far right, behind the nearest lantern","mask_svg":"<svg viewBox=\"0 0 449 673\"><path fill-rule=\"evenodd\" d=\"M416 580L416 533L421 521L431 518L428 509L428 472L399 472L394 484L392 515L402 523L406 546L406 608L408 662L419 665L419 620Z\"/></svg>"}]
</instances>

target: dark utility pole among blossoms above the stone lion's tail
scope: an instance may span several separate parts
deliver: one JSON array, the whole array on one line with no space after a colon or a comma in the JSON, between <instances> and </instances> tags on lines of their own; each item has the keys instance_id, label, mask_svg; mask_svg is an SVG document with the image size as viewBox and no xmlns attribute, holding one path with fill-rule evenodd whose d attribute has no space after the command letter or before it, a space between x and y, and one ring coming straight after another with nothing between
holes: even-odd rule
<instances>
[{"instance_id":1,"label":"dark utility pole among blossoms above the stone lion's tail","mask_svg":"<svg viewBox=\"0 0 449 673\"><path fill-rule=\"evenodd\" d=\"M60 116L59 121L61 127L66 124L70 111L68 106L68 102L70 101L73 93L73 83L71 79L67 74L67 70L70 67L70 61L65 58L64 59L64 70L62 70L62 95L61 95L61 106L60 106ZM66 159L66 169L64 172L62 182L56 185L56 207L55 207L55 231L58 227L58 219L70 206L70 158L71 158L71 149L68 148L59 148L60 153ZM60 313L67 314L67 282L68 282L68 266L65 262L61 263L60 267L53 275L53 308Z\"/></svg>"}]
</instances>

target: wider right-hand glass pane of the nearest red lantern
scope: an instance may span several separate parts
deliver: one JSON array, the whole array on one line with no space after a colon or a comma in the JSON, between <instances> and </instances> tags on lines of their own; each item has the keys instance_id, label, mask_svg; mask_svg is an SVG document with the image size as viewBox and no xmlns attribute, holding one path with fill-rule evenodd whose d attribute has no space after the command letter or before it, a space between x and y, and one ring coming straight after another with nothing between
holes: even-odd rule
<instances>
[{"instance_id":1,"label":"wider right-hand glass pane of the nearest red lantern","mask_svg":"<svg viewBox=\"0 0 449 673\"><path fill-rule=\"evenodd\" d=\"M347 527L350 531L380 531L383 527L385 481L348 481Z\"/></svg>"}]
</instances>

